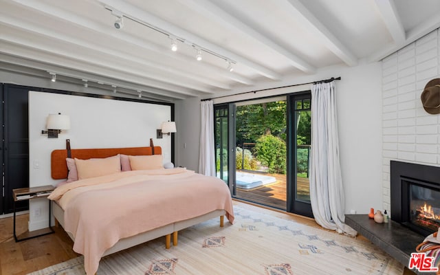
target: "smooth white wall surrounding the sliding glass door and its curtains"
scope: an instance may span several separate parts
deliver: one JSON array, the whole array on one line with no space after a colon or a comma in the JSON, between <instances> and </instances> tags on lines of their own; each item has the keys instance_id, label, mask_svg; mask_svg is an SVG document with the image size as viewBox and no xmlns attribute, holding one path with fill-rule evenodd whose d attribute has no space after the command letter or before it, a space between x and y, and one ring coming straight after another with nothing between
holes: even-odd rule
<instances>
[{"instance_id":1,"label":"smooth white wall surrounding the sliding glass door and its curtains","mask_svg":"<svg viewBox=\"0 0 440 275\"><path fill-rule=\"evenodd\" d=\"M335 66L321 69L314 76L295 77L283 83L267 83L261 87L250 87L248 91L283 87L314 80L341 76L336 81L338 126L340 132L340 162L342 181L345 190L346 212L355 210L367 213L371 207L382 208L382 67L381 63L360 62L356 67ZM250 99L276 94L286 94L310 89L310 85L262 91L240 96L239 99ZM243 92L246 90L232 92ZM237 100L237 97L221 98L218 102ZM190 142L192 148L199 148L200 128L193 123L200 123L200 100L189 99L176 102L179 109L177 118L185 132L184 140L177 144L179 165L198 167L198 157L188 157L193 151L182 148ZM193 118L193 119L191 119ZM176 119L177 120L177 119ZM180 134L180 133L179 133ZM188 146L188 144L187 144ZM187 147L188 148L188 147ZM197 150L198 152L198 150Z\"/></svg>"}]
</instances>

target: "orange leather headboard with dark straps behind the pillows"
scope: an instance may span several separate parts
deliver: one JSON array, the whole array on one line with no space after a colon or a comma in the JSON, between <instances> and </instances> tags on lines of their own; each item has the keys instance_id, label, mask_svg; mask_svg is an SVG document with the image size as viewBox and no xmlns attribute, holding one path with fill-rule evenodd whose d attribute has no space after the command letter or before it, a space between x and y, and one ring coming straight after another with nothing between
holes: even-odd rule
<instances>
[{"instance_id":1,"label":"orange leather headboard with dark straps behind the pillows","mask_svg":"<svg viewBox=\"0 0 440 275\"><path fill-rule=\"evenodd\" d=\"M113 155L153 155L151 147L131 147L131 148L97 148L97 149L72 149L72 158L91 159L111 157ZM162 148L154 146L154 154L162 155ZM52 179L67 179L67 150L54 150L50 155L50 168Z\"/></svg>"}]
</instances>

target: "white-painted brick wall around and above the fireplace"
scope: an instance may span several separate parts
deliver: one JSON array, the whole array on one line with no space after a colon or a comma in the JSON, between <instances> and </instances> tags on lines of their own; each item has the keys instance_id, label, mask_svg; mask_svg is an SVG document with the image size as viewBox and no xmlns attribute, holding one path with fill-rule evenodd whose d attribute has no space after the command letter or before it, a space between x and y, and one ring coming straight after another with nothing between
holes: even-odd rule
<instances>
[{"instance_id":1,"label":"white-painted brick wall around and above the fireplace","mask_svg":"<svg viewBox=\"0 0 440 275\"><path fill-rule=\"evenodd\" d=\"M391 159L440 166L440 115L426 113L420 100L426 83L440 78L439 30L385 58L382 70L383 206L390 209Z\"/></svg>"}]
</instances>

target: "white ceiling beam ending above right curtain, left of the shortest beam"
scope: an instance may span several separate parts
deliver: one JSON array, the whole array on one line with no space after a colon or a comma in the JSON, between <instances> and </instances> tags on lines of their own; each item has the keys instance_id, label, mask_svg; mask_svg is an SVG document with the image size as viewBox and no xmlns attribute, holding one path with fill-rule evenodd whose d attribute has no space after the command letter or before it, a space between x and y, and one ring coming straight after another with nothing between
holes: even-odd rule
<instances>
[{"instance_id":1,"label":"white ceiling beam ending above right curtain, left of the shortest beam","mask_svg":"<svg viewBox=\"0 0 440 275\"><path fill-rule=\"evenodd\" d=\"M286 9L298 20L311 34L319 39L333 54L338 56L349 66L358 65L358 58L342 43L329 29L325 27L299 0L285 0L289 5ZM276 2L278 3L278 1ZM279 2L282 3L282 2Z\"/></svg>"}]
</instances>

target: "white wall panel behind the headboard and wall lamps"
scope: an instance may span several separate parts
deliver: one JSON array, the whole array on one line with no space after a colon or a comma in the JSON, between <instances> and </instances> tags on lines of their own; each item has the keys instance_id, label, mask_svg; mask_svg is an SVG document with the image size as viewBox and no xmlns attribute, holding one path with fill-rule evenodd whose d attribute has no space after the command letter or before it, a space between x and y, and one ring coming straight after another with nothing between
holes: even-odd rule
<instances>
[{"instance_id":1,"label":"white wall panel behind the headboard and wall lamps","mask_svg":"<svg viewBox=\"0 0 440 275\"><path fill-rule=\"evenodd\" d=\"M69 115L71 129L63 131L58 138L41 134L49 113ZM64 149L67 138L72 148L116 148L149 146L153 137L155 146L162 146L164 162L170 162L170 137L155 138L156 129L170 120L170 113L169 105L30 91L30 187L61 181L50 175L50 153ZM38 208L41 215L35 217ZM30 230L47 227L47 211L45 199L31 201Z\"/></svg>"}]
</instances>

